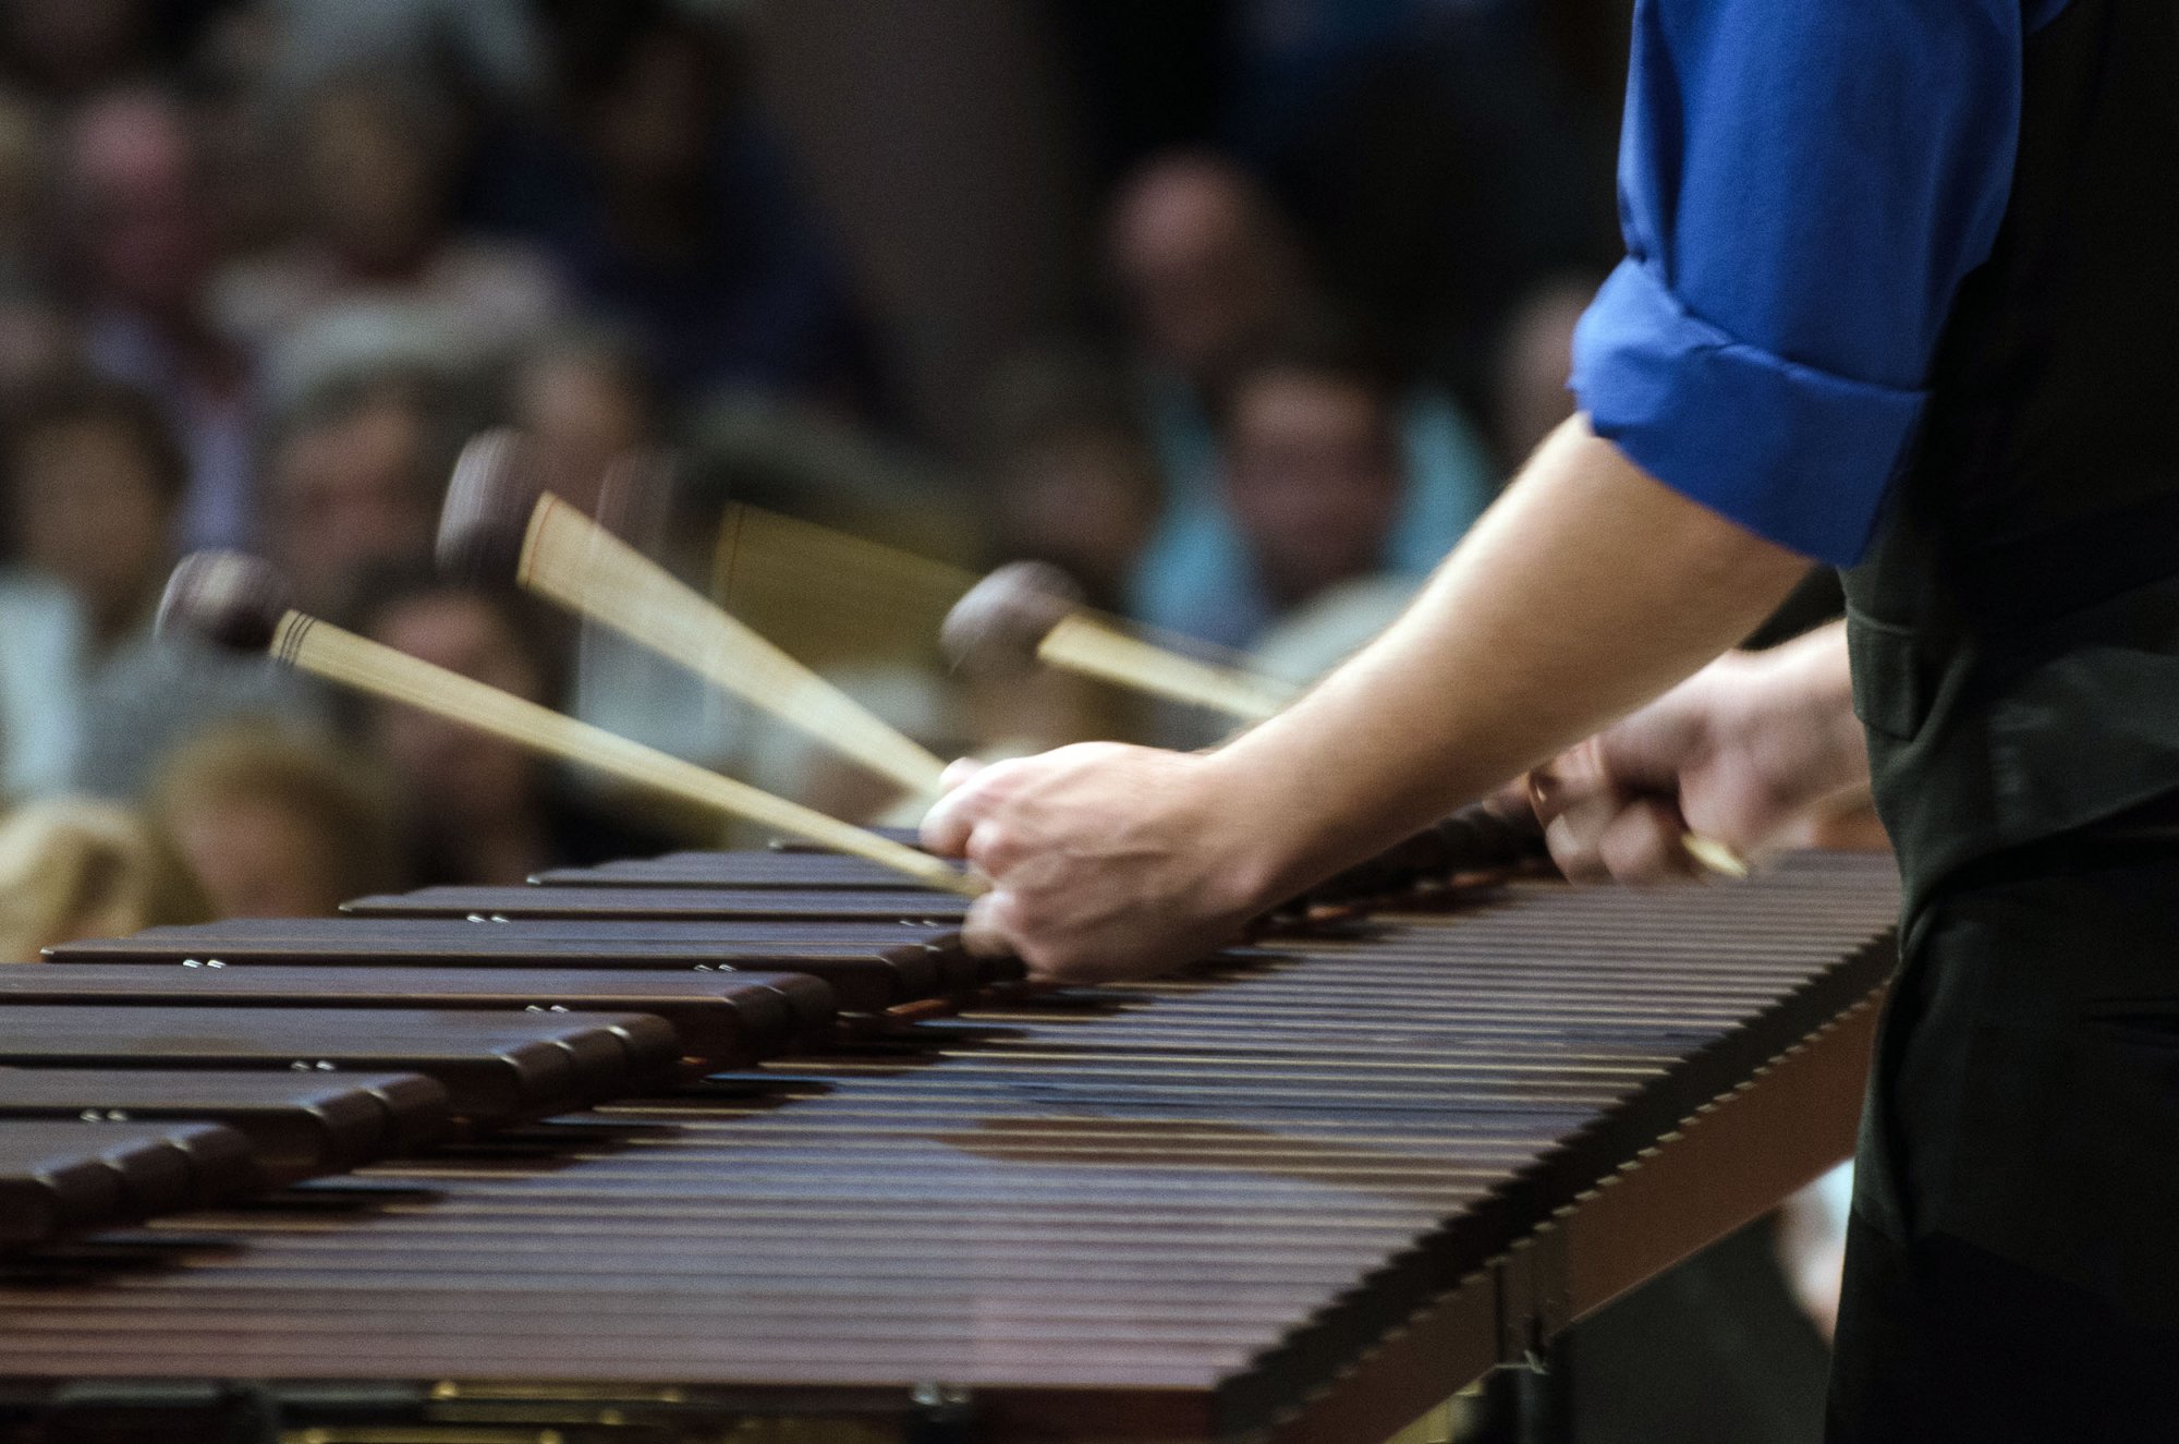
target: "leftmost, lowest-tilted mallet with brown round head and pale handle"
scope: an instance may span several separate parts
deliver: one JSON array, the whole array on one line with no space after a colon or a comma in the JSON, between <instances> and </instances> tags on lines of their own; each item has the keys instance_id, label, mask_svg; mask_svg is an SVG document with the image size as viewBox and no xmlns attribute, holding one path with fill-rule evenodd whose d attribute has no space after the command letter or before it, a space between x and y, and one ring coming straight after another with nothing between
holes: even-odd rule
<instances>
[{"instance_id":1,"label":"leftmost, lowest-tilted mallet with brown round head and pale handle","mask_svg":"<svg viewBox=\"0 0 2179 1444\"><path fill-rule=\"evenodd\" d=\"M983 892L981 879L928 853L290 611L279 600L281 591L272 569L257 558L198 552L174 567L159 606L159 626L161 630L183 626L238 650L266 650L277 661L329 683L475 726L532 753L606 772L660 796L865 857L928 888L963 897Z\"/></svg>"}]
</instances>

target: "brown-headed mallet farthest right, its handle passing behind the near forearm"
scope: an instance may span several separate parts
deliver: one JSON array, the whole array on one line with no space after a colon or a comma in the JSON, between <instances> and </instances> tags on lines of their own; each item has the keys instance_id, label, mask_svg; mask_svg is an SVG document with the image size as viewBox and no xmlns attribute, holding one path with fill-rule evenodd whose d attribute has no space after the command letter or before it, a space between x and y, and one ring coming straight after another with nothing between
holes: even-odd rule
<instances>
[{"instance_id":1,"label":"brown-headed mallet farthest right, its handle passing behind the near forearm","mask_svg":"<svg viewBox=\"0 0 2179 1444\"><path fill-rule=\"evenodd\" d=\"M959 667L1009 674L1042 661L1238 722L1262 722L1292 700L1277 683L1181 657L1096 619L1074 578L1035 561L1007 563L970 587L946 613L939 643Z\"/></svg>"}]
</instances>

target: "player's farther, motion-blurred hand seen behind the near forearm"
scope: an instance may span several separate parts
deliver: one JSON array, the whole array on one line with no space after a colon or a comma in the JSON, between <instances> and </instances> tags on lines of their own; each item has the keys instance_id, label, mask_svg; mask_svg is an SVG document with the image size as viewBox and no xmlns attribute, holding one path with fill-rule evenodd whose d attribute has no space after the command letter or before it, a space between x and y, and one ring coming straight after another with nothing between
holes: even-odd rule
<instances>
[{"instance_id":1,"label":"player's farther, motion-blurred hand seen behind the near forearm","mask_svg":"<svg viewBox=\"0 0 2179 1444\"><path fill-rule=\"evenodd\" d=\"M1761 857L1867 787L1843 641L1728 654L1532 774L1551 859L1573 881L1702 873L1693 831Z\"/></svg>"}]
</instances>

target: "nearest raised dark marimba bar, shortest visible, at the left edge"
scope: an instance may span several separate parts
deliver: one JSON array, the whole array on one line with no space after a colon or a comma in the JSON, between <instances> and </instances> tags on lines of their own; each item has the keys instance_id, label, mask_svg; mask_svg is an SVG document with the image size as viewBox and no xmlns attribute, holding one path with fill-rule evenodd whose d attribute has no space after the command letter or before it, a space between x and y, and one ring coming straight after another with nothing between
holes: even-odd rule
<instances>
[{"instance_id":1,"label":"nearest raised dark marimba bar, shortest visible, at the left edge","mask_svg":"<svg viewBox=\"0 0 2179 1444\"><path fill-rule=\"evenodd\" d=\"M44 1243L261 1187L218 1123L0 1121L0 1243Z\"/></svg>"}]
</instances>

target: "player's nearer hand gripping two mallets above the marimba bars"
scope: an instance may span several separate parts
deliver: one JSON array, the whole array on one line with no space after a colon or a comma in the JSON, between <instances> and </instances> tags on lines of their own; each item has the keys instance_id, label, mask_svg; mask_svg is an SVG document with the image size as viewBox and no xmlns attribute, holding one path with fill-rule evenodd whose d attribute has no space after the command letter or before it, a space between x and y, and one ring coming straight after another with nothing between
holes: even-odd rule
<instances>
[{"instance_id":1,"label":"player's nearer hand gripping two mallets above the marimba bars","mask_svg":"<svg viewBox=\"0 0 2179 1444\"><path fill-rule=\"evenodd\" d=\"M1270 901L1266 833L1214 757L1087 742L954 763L948 785L924 846L991 879L965 942L1033 977L1151 977L1231 942Z\"/></svg>"}]
</instances>

